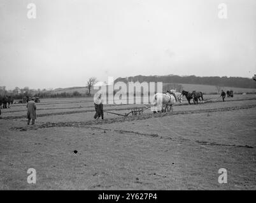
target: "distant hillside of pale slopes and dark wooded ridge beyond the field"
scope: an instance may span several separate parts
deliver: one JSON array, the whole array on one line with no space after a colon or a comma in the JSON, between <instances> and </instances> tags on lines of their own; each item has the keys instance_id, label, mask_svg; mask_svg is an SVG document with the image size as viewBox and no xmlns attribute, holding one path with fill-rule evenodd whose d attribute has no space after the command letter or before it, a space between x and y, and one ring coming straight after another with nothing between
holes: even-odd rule
<instances>
[{"instance_id":1,"label":"distant hillside of pale slopes and dark wooded ridge beyond the field","mask_svg":"<svg viewBox=\"0 0 256 203\"><path fill-rule=\"evenodd\" d=\"M253 79L245 77L197 77L190 76L178 76L178 75L164 75L164 76L143 76L137 75L134 77L118 77L115 82L123 81L139 81L139 82L163 82L163 91L166 91L168 84L181 84L186 91L202 91L203 93L218 93L216 86L221 86L221 89L227 91L232 89L234 93L256 93L256 82ZM72 88L57 88L53 89L51 93L73 93L78 91L82 95L87 94L87 87L72 87ZM92 88L92 95L97 90Z\"/></svg>"}]
</instances>

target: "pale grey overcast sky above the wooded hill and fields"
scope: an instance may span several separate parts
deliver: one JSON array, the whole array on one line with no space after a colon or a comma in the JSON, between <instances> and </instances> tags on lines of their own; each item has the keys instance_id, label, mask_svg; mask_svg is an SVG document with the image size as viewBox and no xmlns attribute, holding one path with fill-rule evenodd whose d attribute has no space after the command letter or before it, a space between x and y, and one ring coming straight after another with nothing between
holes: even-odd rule
<instances>
[{"instance_id":1,"label":"pale grey overcast sky above the wooded hill and fields","mask_svg":"<svg viewBox=\"0 0 256 203\"><path fill-rule=\"evenodd\" d=\"M27 4L36 19L27 18ZM227 19L218 4L227 4ZM0 86L256 73L255 0L1 0Z\"/></svg>"}]
</instances>

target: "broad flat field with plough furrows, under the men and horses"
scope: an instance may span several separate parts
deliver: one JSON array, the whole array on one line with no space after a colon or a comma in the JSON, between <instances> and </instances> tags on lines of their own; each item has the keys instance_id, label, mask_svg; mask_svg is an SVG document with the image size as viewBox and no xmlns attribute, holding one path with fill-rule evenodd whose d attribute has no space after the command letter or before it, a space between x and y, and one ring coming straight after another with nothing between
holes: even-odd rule
<instances>
[{"instance_id":1,"label":"broad flat field with plough furrows, under the men and horses","mask_svg":"<svg viewBox=\"0 0 256 203\"><path fill-rule=\"evenodd\" d=\"M92 98L41 99L1 109L1 190L255 190L256 95L204 95L173 112L93 119ZM125 114L143 105L104 105ZM77 153L74 153L74 151ZM36 169L36 184L27 169ZM218 169L227 183L218 183Z\"/></svg>"}]
</instances>

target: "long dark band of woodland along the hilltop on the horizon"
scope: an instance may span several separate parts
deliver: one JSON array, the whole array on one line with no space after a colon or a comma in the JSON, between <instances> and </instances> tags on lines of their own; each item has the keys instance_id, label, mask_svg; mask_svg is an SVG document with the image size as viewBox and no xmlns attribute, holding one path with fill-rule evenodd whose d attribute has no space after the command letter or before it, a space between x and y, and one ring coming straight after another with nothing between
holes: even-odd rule
<instances>
[{"instance_id":1,"label":"long dark band of woodland along the hilltop on the horizon","mask_svg":"<svg viewBox=\"0 0 256 203\"><path fill-rule=\"evenodd\" d=\"M115 82L123 81L139 81L139 82L163 82L163 83L179 83L179 84L205 84L210 86L225 86L233 88L256 88L256 82L246 77L198 77L195 75L179 76L179 75L136 75L133 77L118 77Z\"/></svg>"}]
</instances>

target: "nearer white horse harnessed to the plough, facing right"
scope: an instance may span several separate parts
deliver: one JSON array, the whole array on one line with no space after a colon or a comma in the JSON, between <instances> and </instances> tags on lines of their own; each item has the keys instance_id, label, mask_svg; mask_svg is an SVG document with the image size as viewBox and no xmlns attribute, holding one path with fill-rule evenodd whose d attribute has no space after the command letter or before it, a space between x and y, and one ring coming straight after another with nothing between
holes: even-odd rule
<instances>
[{"instance_id":1,"label":"nearer white horse harnessed to the plough, facing right","mask_svg":"<svg viewBox=\"0 0 256 203\"><path fill-rule=\"evenodd\" d=\"M171 93L156 93L153 95L153 106L157 107L157 110L153 110L153 113L156 112L166 112L166 110L173 110L173 105L176 102L175 97ZM165 106L165 108L163 108ZM168 109L170 107L170 110Z\"/></svg>"}]
</instances>

